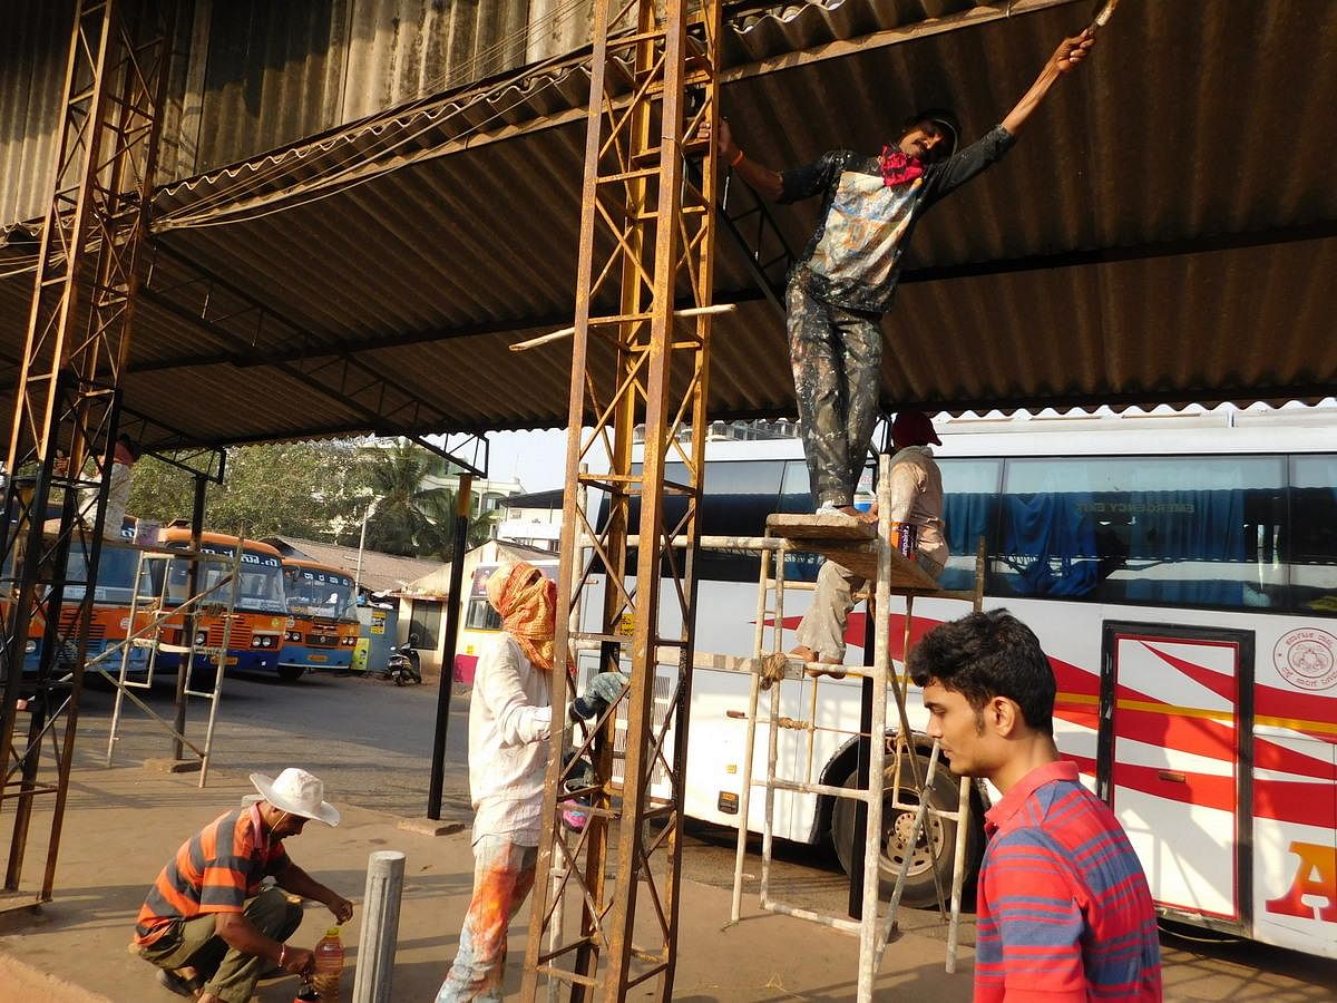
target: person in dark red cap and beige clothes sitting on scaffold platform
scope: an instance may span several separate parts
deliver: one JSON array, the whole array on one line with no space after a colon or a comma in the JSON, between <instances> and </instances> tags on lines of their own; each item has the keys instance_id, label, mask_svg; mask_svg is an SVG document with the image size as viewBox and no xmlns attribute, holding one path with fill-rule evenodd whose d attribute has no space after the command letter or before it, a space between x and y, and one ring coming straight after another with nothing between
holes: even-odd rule
<instances>
[{"instance_id":1,"label":"person in dark red cap and beige clothes sitting on scaffold platform","mask_svg":"<svg viewBox=\"0 0 1337 1003\"><path fill-rule=\"evenodd\" d=\"M923 411L902 411L892 423L892 520L913 527L916 562L931 578L947 564L943 527L943 473L931 445L943 440ZM877 507L873 507L876 518ZM902 530L904 531L904 530ZM854 594L865 580L849 568L828 560L817 572L817 594L796 631L798 645L790 655L804 662L841 665L845 661L845 625L854 608ZM845 673L828 673L841 678Z\"/></svg>"}]
</instances>

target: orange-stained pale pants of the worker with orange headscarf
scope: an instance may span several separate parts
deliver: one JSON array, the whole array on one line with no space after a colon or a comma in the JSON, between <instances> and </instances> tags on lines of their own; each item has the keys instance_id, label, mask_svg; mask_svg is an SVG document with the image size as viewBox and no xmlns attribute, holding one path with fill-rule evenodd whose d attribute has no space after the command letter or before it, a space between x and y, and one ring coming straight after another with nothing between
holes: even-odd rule
<instances>
[{"instance_id":1,"label":"orange-stained pale pants of the worker with orange headscarf","mask_svg":"<svg viewBox=\"0 0 1337 1003\"><path fill-rule=\"evenodd\" d=\"M505 836L480 836L473 844L473 897L460 931L459 954L436 1003L500 1003L507 931L533 888L537 857L537 847L521 847Z\"/></svg>"}]
</instances>

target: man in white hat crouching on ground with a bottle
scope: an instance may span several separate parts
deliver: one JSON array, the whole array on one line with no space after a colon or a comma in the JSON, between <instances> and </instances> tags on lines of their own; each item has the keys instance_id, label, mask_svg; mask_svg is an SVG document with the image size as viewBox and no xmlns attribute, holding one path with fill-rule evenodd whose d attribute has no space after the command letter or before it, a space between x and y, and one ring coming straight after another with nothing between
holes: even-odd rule
<instances>
[{"instance_id":1,"label":"man in white hat crouching on ground with a bottle","mask_svg":"<svg viewBox=\"0 0 1337 1003\"><path fill-rule=\"evenodd\" d=\"M249 1003L271 966L293 975L310 971L314 955L283 943L301 925L302 909L279 888L325 904L340 923L353 916L353 903L283 849L283 839L299 836L312 818L338 825L325 785L301 769L250 778L263 800L219 816L183 843L135 923L134 947L163 970L159 984L201 1003ZM261 892L270 875L278 888Z\"/></svg>"}]
</instances>

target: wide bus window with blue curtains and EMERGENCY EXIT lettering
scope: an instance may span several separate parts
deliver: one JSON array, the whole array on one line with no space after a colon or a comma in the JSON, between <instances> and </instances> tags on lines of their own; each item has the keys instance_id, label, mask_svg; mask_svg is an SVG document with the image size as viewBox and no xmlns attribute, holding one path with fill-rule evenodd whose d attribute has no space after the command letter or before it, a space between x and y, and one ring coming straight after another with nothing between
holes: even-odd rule
<instances>
[{"instance_id":1,"label":"wide bus window with blue curtains and EMERGENCY EXIT lettering","mask_svg":"<svg viewBox=\"0 0 1337 1003\"><path fill-rule=\"evenodd\" d=\"M1281 603L1280 456L1008 460L991 586L1001 595Z\"/></svg>"}]
</instances>

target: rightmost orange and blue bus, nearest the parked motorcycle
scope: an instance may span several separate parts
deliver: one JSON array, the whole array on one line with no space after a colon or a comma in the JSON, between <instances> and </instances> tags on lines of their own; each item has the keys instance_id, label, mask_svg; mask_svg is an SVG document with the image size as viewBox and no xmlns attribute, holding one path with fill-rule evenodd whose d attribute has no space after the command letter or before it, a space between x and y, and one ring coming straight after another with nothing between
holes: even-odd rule
<instances>
[{"instance_id":1,"label":"rightmost orange and blue bus, nearest the parked motorcycle","mask_svg":"<svg viewBox=\"0 0 1337 1003\"><path fill-rule=\"evenodd\" d=\"M308 669L350 669L357 647L357 592L338 568L283 558L287 626L278 674L297 679Z\"/></svg>"}]
</instances>

